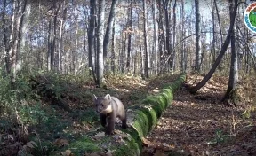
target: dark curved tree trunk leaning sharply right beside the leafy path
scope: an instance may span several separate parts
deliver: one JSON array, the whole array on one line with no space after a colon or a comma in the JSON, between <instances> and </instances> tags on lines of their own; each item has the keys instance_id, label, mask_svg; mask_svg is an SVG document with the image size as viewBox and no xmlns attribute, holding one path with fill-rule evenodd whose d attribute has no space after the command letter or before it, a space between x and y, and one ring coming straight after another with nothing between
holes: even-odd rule
<instances>
[{"instance_id":1,"label":"dark curved tree trunk leaning sharply right beside the leafy path","mask_svg":"<svg viewBox=\"0 0 256 156\"><path fill-rule=\"evenodd\" d=\"M233 11L231 12L232 17L230 19L230 25L229 25L229 28L228 28L228 35L227 35L227 37L225 39L225 42L221 46L221 50L220 50L219 56L216 58L216 61L212 65L211 70L208 72L208 74L206 74L204 76L204 79L201 82L197 83L195 87L189 89L190 93L196 93L197 90L200 90L204 86L204 84L206 82L208 82L208 80L212 77L212 74L215 72L216 68L220 65L220 61L223 58L225 52L227 51L228 44L230 42L230 38L231 38L231 34L232 34L232 29L234 27L235 20L236 20L236 10L237 10L237 0L235 0L235 7L234 7Z\"/></svg>"}]
</instances>

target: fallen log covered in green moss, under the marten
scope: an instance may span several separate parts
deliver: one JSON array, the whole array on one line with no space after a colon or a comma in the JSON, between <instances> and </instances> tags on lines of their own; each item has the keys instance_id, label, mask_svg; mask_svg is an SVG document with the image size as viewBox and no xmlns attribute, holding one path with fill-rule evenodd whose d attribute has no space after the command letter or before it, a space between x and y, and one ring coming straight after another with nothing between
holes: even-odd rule
<instances>
[{"instance_id":1,"label":"fallen log covered in green moss, under the marten","mask_svg":"<svg viewBox=\"0 0 256 156\"><path fill-rule=\"evenodd\" d=\"M63 147L62 152L70 150L74 155L92 152L99 152L100 155L102 152L112 152L112 155L139 156L142 149L141 139L156 126L157 119L172 104L173 93L180 88L185 79L186 74L180 74L177 80L166 85L157 95L143 99L141 104L130 106L127 109L128 129L116 126L119 130L112 136L105 136L103 129L99 129L79 140L74 140Z\"/></svg>"}]
</instances>

